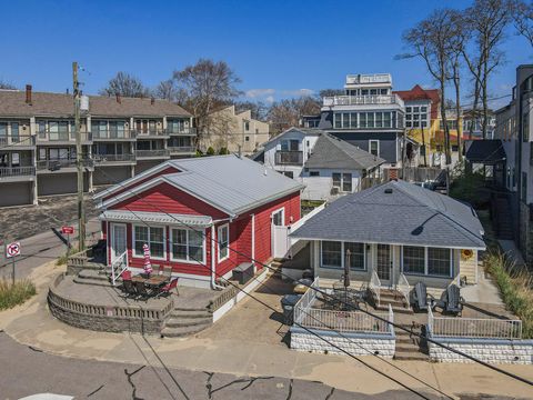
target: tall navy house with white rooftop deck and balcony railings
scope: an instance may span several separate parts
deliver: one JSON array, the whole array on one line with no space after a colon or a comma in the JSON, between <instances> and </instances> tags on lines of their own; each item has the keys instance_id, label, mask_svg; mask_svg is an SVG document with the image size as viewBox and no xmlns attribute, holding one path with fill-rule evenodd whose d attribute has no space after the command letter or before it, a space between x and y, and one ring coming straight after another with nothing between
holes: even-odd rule
<instances>
[{"instance_id":1,"label":"tall navy house with white rooftop deck and balcony railings","mask_svg":"<svg viewBox=\"0 0 533 400\"><path fill-rule=\"evenodd\" d=\"M322 99L319 128L384 159L383 167L401 166L405 104L391 74L349 74L344 92Z\"/></svg>"}]
</instances>

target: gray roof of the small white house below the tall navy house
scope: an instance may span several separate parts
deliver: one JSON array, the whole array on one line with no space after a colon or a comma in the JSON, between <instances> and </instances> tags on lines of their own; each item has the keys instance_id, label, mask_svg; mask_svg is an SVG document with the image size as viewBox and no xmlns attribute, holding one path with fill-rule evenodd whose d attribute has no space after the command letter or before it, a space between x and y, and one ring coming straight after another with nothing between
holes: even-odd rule
<instances>
[{"instance_id":1,"label":"gray roof of the small white house below the tall navy house","mask_svg":"<svg viewBox=\"0 0 533 400\"><path fill-rule=\"evenodd\" d=\"M363 170L378 167L385 160L382 158L361 150L356 146L329 133L322 133L314 144L313 153L305 162L305 167Z\"/></svg>"}]
</instances>

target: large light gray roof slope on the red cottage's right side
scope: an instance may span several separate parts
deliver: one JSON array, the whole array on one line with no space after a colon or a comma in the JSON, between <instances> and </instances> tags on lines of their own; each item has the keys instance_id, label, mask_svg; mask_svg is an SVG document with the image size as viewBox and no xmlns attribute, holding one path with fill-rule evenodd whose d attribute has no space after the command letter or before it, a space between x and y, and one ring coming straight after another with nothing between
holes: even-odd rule
<instances>
[{"instance_id":1,"label":"large light gray roof slope on the red cottage's right side","mask_svg":"<svg viewBox=\"0 0 533 400\"><path fill-rule=\"evenodd\" d=\"M303 189L291 178L233 154L167 162L182 171L164 176L167 181L234 214Z\"/></svg>"}]
</instances>

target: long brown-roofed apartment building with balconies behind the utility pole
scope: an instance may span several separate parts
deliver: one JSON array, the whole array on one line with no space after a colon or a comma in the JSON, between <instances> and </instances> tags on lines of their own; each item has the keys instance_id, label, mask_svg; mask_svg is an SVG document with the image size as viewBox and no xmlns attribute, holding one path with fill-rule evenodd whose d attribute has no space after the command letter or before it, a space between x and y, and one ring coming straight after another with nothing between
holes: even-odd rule
<instances>
[{"instance_id":1,"label":"long brown-roofed apartment building with balconies behind the utility pole","mask_svg":"<svg viewBox=\"0 0 533 400\"><path fill-rule=\"evenodd\" d=\"M191 114L165 100L83 97L80 132L87 191L195 153ZM0 207L76 192L76 158L71 94L0 90Z\"/></svg>"}]
</instances>

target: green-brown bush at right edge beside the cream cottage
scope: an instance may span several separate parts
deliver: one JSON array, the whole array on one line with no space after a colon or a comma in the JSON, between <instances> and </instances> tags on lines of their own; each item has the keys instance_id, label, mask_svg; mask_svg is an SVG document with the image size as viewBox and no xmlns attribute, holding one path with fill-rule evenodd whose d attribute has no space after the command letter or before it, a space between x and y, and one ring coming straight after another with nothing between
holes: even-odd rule
<instances>
[{"instance_id":1,"label":"green-brown bush at right edge beside the cream cottage","mask_svg":"<svg viewBox=\"0 0 533 400\"><path fill-rule=\"evenodd\" d=\"M496 250L485 254L484 264L507 309L522 320L523 337L533 338L533 277Z\"/></svg>"}]
</instances>

